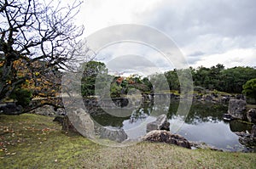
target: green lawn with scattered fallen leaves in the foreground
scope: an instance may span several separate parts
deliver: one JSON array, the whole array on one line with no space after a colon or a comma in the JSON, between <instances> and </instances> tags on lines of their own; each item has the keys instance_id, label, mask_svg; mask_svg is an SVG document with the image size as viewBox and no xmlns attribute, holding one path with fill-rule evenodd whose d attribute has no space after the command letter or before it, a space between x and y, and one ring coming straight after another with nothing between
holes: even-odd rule
<instances>
[{"instance_id":1,"label":"green lawn with scattered fallen leaves in the foreground","mask_svg":"<svg viewBox=\"0 0 256 169\"><path fill-rule=\"evenodd\" d=\"M52 118L0 115L0 168L256 168L256 154L140 143L111 148L61 132Z\"/></svg>"}]
</instances>

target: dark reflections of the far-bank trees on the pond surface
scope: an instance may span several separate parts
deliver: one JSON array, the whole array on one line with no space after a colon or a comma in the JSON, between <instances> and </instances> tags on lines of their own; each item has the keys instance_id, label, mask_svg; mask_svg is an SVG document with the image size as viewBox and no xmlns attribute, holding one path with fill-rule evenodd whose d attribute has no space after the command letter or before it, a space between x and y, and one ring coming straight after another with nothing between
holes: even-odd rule
<instances>
[{"instance_id":1,"label":"dark reflections of the far-bank trees on the pond surface","mask_svg":"<svg viewBox=\"0 0 256 169\"><path fill-rule=\"evenodd\" d=\"M169 119L175 118L177 115L179 101L172 101L170 106L167 107L165 104L154 105L152 102L144 102L136 110L130 110L131 114L127 114L125 117L119 117L114 115L109 115L108 112L100 108L96 110L96 114L90 114L92 118L104 127L123 127L123 121L129 120L131 123L143 120L151 116L158 116L161 114L166 114ZM223 121L223 115L228 110L228 107L223 104L202 104L201 102L194 102L189 110L189 115L187 115L185 123L188 124L199 124L201 122L218 122ZM122 111L121 111L122 112Z\"/></svg>"}]
</instances>

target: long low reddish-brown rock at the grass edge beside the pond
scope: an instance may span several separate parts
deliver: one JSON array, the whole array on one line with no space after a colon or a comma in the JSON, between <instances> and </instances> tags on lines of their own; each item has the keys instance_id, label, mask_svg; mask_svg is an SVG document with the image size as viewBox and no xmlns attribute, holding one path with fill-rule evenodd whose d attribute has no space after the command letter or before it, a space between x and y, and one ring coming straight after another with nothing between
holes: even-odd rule
<instances>
[{"instance_id":1,"label":"long low reddish-brown rock at the grass edge beside the pond","mask_svg":"<svg viewBox=\"0 0 256 169\"><path fill-rule=\"evenodd\" d=\"M189 141L186 138L183 138L177 134L172 134L171 132L167 132L165 130L154 130L148 132L143 137L143 141L163 142L166 144L175 144L177 146L191 149Z\"/></svg>"}]
</instances>

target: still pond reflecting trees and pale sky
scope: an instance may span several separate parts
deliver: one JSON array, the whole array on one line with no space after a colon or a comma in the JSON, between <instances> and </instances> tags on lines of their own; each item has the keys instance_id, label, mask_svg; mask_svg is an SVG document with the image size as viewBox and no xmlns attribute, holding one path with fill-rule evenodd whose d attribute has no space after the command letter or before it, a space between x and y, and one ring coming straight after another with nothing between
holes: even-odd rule
<instances>
[{"instance_id":1,"label":"still pond reflecting trees and pale sky","mask_svg":"<svg viewBox=\"0 0 256 169\"><path fill-rule=\"evenodd\" d=\"M103 127L124 129L128 138L136 139L146 134L148 122L154 121L158 115L166 114L171 124L171 132L180 134L189 141L230 151L247 150L240 144L235 132L250 132L252 126L241 121L224 121L223 115L228 110L226 104L193 102L185 117L176 115L178 105L179 102L175 100L172 100L169 107L144 103L136 109L124 107L102 110L105 113L96 113L92 118ZM121 113L125 115L120 116Z\"/></svg>"}]
</instances>

